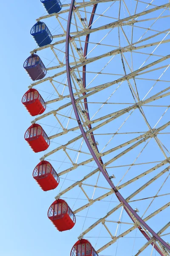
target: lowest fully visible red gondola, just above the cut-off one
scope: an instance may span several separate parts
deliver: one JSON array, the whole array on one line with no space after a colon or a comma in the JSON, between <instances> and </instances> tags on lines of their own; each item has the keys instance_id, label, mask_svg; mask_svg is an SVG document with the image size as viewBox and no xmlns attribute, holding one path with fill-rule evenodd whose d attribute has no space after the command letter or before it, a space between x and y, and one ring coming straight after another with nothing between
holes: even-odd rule
<instances>
[{"instance_id":1,"label":"lowest fully visible red gondola, just above the cut-off one","mask_svg":"<svg viewBox=\"0 0 170 256\"><path fill-rule=\"evenodd\" d=\"M76 222L74 213L62 199L58 199L51 204L48 209L48 218L59 231L70 230Z\"/></svg>"}]
</instances>

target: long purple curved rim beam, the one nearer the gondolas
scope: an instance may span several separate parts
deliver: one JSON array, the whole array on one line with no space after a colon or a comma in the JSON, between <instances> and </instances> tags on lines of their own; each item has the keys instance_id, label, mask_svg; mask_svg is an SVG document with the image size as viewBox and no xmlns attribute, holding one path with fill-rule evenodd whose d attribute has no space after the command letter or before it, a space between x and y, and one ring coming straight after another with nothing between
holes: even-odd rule
<instances>
[{"instance_id":1,"label":"long purple curved rim beam, the one nearer the gondolas","mask_svg":"<svg viewBox=\"0 0 170 256\"><path fill-rule=\"evenodd\" d=\"M71 96L71 102L73 105L73 109L74 109L74 113L80 128L80 131L82 132L82 136L85 140L85 143L88 146L89 151L91 152L92 157L94 158L99 170L102 172L103 176L105 177L105 179L108 181L109 185L111 186L111 188L113 189L113 191L115 192L118 200L120 202L122 202L122 204L125 205L125 210L127 211L127 209L133 214L133 216L152 234L152 236L158 240L159 242L161 242L161 244L164 245L164 247L167 248L167 250L170 250L170 246L163 240L161 239L161 237L159 237L143 220L142 218L132 209L132 207L127 203L127 201L125 200L125 198L122 197L122 195L119 193L119 191L116 189L116 187L114 186L113 182L109 179L107 173L105 172L105 170L102 168L102 165L100 163L100 160L96 157L96 154L93 151L93 148L91 148L91 145L88 141L88 138L86 137L86 133L83 129L81 120L79 118L79 113L77 111L77 107L76 107L76 100L74 99L74 94L73 94L73 89L72 89L72 84L71 84L71 76L70 76L70 64L69 64L69 41L70 41L70 27L71 27L71 17L72 17L72 13L73 13L73 8L74 8L74 2L75 0L71 0L71 6L70 6L70 11L69 11L69 15L68 15L68 23L67 23L67 33L66 33L66 46L65 46L65 59L66 59L66 70L67 70L67 78L68 78L68 87L69 87L69 92L70 92L70 96ZM127 208L127 209L126 209ZM128 211L127 211L128 213ZM131 218L131 215L130 215ZM133 220L133 218L131 218ZM133 220L134 221L134 220ZM146 237L146 236L145 236ZM157 248L158 249L158 248ZM159 253L163 256L163 254L161 253L161 251L159 250Z\"/></svg>"}]
</instances>

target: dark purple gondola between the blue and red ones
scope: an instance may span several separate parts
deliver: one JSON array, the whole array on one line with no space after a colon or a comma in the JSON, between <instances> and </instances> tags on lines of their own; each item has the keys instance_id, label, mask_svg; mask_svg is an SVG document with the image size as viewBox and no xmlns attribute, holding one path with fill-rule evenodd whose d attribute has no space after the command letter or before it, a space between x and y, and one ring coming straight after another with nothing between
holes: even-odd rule
<instances>
[{"instance_id":1,"label":"dark purple gondola between the blue and red ones","mask_svg":"<svg viewBox=\"0 0 170 256\"><path fill-rule=\"evenodd\" d=\"M33 81L44 78L47 73L42 60L36 54L29 56L24 62L23 67Z\"/></svg>"}]
</instances>

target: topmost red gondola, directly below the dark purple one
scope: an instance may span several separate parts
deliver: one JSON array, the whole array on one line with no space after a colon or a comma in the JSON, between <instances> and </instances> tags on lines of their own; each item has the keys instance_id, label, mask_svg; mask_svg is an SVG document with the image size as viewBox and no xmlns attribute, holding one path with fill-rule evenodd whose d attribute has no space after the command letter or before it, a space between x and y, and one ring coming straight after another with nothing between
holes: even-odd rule
<instances>
[{"instance_id":1,"label":"topmost red gondola, directly below the dark purple one","mask_svg":"<svg viewBox=\"0 0 170 256\"><path fill-rule=\"evenodd\" d=\"M22 103L31 116L42 114L46 108L46 104L40 93L35 89L30 89L24 94Z\"/></svg>"}]
</instances>

